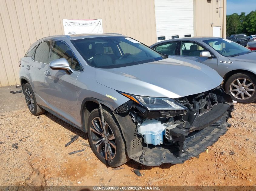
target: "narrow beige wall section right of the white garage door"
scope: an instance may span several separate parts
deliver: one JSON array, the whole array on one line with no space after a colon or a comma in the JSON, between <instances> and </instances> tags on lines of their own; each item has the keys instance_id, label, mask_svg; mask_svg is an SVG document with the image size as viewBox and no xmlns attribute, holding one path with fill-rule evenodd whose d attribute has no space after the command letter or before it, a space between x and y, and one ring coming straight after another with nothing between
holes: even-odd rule
<instances>
[{"instance_id":1,"label":"narrow beige wall section right of the white garage door","mask_svg":"<svg viewBox=\"0 0 256 191\"><path fill-rule=\"evenodd\" d=\"M226 3L227 0L194 0L194 36L212 37L213 27L221 26L221 37L226 37Z\"/></svg>"}]
</instances>

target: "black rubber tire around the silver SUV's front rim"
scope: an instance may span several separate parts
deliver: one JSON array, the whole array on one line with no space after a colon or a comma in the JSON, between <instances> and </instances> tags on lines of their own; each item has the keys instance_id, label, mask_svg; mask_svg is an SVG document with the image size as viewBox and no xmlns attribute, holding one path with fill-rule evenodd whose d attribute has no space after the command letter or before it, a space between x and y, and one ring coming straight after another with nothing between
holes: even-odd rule
<instances>
[{"instance_id":1,"label":"black rubber tire around the silver SUV's front rim","mask_svg":"<svg viewBox=\"0 0 256 191\"><path fill-rule=\"evenodd\" d=\"M109 136L107 136L107 137L112 137L112 135L114 135L114 138L115 138L115 141L114 140L110 141L113 145L116 145L116 149L114 149L112 147L112 145L110 145L111 146L111 153L115 151L114 157L111 158L111 160L106 160L106 158L108 158L108 159L110 158L109 156L112 157L111 153L108 155L109 151L107 151L106 152L107 157L104 158L103 156L106 156L105 152L104 152L105 149L101 148L101 149L99 149L100 152L98 152L96 144L93 143L93 140L98 141L101 138L101 135L99 135L95 132L91 132L91 128L94 128L94 126L92 124L92 121L94 119L95 119L94 121L96 121L97 124L98 124L97 127L101 128L101 126L99 126L100 122L98 121L98 119L101 119L99 108L93 110L90 113L89 118L88 118L87 132L88 132L89 143L91 145L92 151L94 152L94 154L98 157L98 159L102 163L104 163L106 165L109 165L110 167L119 167L119 166L121 166L122 164L125 164L128 161L128 157L126 155L125 141L124 141L123 135L121 133L120 126L119 126L117 120L115 119L115 116L111 113L111 111L103 109L103 115L104 115L105 123L108 124L108 127L110 127L110 129L108 129L108 127L106 127L108 129L106 131L108 131L108 133L109 133L108 134ZM100 130L101 130L101 132L103 132L102 128ZM99 139L97 139L97 138L99 138ZM106 136L105 136L105 138L106 138ZM100 142L97 145L99 145L99 146L100 146L100 144L105 145L105 142L106 142L105 138L103 138L103 140L102 140L103 143ZM98 148L100 148L99 146L98 146Z\"/></svg>"}]
</instances>

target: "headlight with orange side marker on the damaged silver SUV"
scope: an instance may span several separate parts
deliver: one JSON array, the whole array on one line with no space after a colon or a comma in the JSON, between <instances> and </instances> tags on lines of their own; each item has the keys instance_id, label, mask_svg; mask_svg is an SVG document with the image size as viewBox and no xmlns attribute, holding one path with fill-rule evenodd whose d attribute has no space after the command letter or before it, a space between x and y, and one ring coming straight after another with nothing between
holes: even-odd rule
<instances>
[{"instance_id":1,"label":"headlight with orange side marker on the damaged silver SUV","mask_svg":"<svg viewBox=\"0 0 256 191\"><path fill-rule=\"evenodd\" d=\"M187 110L187 108L171 98L145 97L118 92L136 103L146 107L148 110Z\"/></svg>"}]
</instances>

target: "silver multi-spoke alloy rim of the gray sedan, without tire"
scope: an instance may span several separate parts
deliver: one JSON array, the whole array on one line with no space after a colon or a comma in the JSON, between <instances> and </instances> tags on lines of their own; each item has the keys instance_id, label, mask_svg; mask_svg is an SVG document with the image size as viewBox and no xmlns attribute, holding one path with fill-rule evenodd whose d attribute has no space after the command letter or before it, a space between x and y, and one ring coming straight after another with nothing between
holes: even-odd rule
<instances>
[{"instance_id":1,"label":"silver multi-spoke alloy rim of the gray sedan, without tire","mask_svg":"<svg viewBox=\"0 0 256 191\"><path fill-rule=\"evenodd\" d=\"M238 78L232 81L229 87L233 97L239 100L247 100L255 93L253 82L247 78Z\"/></svg>"}]
</instances>

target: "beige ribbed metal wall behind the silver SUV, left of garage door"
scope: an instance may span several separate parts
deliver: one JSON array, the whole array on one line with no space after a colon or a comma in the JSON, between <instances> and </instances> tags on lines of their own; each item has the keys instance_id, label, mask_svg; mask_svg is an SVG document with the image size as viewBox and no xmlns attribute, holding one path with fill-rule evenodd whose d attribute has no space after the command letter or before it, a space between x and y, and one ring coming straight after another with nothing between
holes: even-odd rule
<instances>
[{"instance_id":1,"label":"beige ribbed metal wall behind the silver SUV, left of garage door","mask_svg":"<svg viewBox=\"0 0 256 191\"><path fill-rule=\"evenodd\" d=\"M18 60L36 40L64 34L62 19L102 19L104 33L156 42L154 0L0 0L0 87L18 84Z\"/></svg>"}]
</instances>

